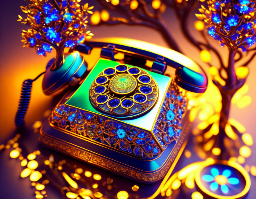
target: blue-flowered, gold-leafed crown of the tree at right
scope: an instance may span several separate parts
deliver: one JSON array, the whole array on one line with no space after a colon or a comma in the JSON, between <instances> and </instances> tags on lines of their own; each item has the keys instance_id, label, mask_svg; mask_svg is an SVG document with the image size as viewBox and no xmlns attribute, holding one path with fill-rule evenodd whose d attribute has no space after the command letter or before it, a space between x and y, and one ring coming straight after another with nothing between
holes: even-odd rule
<instances>
[{"instance_id":1,"label":"blue-flowered, gold-leafed crown of the tree at right","mask_svg":"<svg viewBox=\"0 0 256 199\"><path fill-rule=\"evenodd\" d=\"M208 34L226 45L230 51L241 48L246 51L256 40L256 1L217 0L207 1L204 16L197 15L207 23Z\"/></svg>"}]
</instances>

